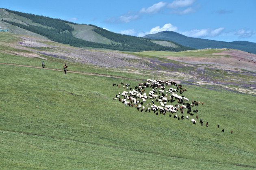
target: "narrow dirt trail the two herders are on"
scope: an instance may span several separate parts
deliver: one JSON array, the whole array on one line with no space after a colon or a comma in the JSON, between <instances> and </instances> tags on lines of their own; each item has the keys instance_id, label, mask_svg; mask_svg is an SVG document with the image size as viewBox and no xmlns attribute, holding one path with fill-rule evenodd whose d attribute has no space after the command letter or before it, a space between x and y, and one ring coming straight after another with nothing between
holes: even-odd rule
<instances>
[{"instance_id":1,"label":"narrow dirt trail the two herders are on","mask_svg":"<svg viewBox=\"0 0 256 170\"><path fill-rule=\"evenodd\" d=\"M59 69L42 68L42 67L36 67L36 66L30 66L30 65L16 65L16 64L9 64L9 63L0 63L0 65L12 65L12 66L19 66L19 67L30 67L30 68L36 68L36 69L63 71L63 70L59 70ZM132 79L132 78L121 77L121 76L116 76L116 75L107 75L107 74L98 74L98 73L85 73L85 72L79 72L79 71L68 71L68 72L69 73L84 74L84 75L96 75L96 76L103 76L103 77L122 78L122 79L126 79L126 80L145 81L143 79Z\"/></svg>"}]
</instances>

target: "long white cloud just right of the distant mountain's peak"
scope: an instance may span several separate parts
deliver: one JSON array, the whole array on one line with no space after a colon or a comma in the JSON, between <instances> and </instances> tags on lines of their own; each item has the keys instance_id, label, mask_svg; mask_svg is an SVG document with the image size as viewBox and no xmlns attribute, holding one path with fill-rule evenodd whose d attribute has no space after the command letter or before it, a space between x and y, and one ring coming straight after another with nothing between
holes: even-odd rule
<instances>
[{"instance_id":1,"label":"long white cloud just right of the distant mountain's peak","mask_svg":"<svg viewBox=\"0 0 256 170\"><path fill-rule=\"evenodd\" d=\"M213 29L202 29L202 30L191 30L183 32L182 34L187 37L195 37L195 38L202 38L202 37L217 37L221 32L224 30L224 28L217 28L215 30Z\"/></svg>"}]
</instances>

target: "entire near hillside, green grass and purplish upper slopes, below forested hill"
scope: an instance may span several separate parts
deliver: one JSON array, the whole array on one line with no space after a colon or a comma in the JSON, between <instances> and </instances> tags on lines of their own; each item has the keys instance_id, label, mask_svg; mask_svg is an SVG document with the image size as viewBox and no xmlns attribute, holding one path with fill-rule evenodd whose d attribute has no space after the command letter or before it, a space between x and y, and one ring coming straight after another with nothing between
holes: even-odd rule
<instances>
[{"instance_id":1,"label":"entire near hillside, green grass and purplish upper slopes, below forested hill","mask_svg":"<svg viewBox=\"0 0 256 170\"><path fill-rule=\"evenodd\" d=\"M1 170L256 168L255 71L169 60L171 52L83 49L8 32L0 39ZM173 53L214 59L226 51ZM249 59L255 61L256 55L241 62L252 65ZM114 99L129 90L113 84L135 89L147 79L182 84L186 103L204 105L191 107L195 115L178 109L178 116L189 116L182 120ZM146 95L150 90L145 88ZM180 105L178 99L167 103ZM191 123L196 115L203 126L199 120Z\"/></svg>"}]
</instances>

